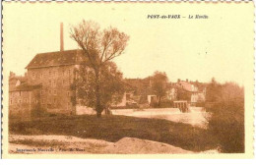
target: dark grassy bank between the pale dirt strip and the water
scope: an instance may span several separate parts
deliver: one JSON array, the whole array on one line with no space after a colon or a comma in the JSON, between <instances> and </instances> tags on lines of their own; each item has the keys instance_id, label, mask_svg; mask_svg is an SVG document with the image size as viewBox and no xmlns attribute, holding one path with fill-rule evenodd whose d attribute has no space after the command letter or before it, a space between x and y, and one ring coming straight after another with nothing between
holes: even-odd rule
<instances>
[{"instance_id":1,"label":"dark grassy bank between the pale dirt strip and the water","mask_svg":"<svg viewBox=\"0 0 256 165\"><path fill-rule=\"evenodd\" d=\"M61 135L115 142L121 138L144 138L187 150L216 148L216 138L207 130L160 119L125 116L66 116L34 121L10 122L10 134Z\"/></svg>"}]
</instances>

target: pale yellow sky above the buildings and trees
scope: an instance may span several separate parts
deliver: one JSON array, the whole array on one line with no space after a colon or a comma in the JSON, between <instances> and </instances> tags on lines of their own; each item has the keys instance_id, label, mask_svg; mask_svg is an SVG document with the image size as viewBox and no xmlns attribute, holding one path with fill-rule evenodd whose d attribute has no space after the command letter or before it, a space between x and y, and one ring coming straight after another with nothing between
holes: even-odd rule
<instances>
[{"instance_id":1,"label":"pale yellow sky above the buildings and trees","mask_svg":"<svg viewBox=\"0 0 256 165\"><path fill-rule=\"evenodd\" d=\"M70 27L85 19L130 36L124 54L114 59L124 78L146 78L160 71L170 82L210 82L214 77L221 83L243 84L246 65L253 63L252 11L253 5L235 3L5 3L4 72L24 75L36 53L59 51L61 22L64 49L76 49ZM197 14L209 19L187 19ZM186 19L148 19L148 15Z\"/></svg>"}]
</instances>

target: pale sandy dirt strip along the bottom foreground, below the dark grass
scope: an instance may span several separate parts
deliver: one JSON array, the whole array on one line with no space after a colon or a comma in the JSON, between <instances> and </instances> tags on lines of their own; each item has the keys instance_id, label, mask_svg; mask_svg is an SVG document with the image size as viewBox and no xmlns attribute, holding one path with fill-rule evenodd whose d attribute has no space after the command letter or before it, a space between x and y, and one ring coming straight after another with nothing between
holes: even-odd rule
<instances>
[{"instance_id":1,"label":"pale sandy dirt strip along the bottom foreground, below the dark grass","mask_svg":"<svg viewBox=\"0 0 256 165\"><path fill-rule=\"evenodd\" d=\"M166 143L139 139L121 138L116 142L101 139L65 136L18 136L10 135L11 153L195 153Z\"/></svg>"}]
</instances>

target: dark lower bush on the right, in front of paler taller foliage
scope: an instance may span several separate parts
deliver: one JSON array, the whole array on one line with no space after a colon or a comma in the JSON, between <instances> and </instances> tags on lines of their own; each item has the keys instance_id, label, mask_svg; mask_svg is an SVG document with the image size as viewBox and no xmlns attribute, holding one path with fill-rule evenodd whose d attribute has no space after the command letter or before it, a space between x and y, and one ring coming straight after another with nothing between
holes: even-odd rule
<instances>
[{"instance_id":1,"label":"dark lower bush on the right, in front of paler taller foliage","mask_svg":"<svg viewBox=\"0 0 256 165\"><path fill-rule=\"evenodd\" d=\"M244 114L239 105L222 102L211 110L209 131L218 137L223 152L244 152Z\"/></svg>"}]
</instances>

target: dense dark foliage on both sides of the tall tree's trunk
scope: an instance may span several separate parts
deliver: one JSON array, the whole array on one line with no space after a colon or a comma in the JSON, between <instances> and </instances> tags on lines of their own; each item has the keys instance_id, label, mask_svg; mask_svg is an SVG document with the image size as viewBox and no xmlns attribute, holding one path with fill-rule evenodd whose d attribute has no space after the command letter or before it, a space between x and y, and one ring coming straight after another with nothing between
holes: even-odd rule
<instances>
[{"instance_id":1,"label":"dense dark foliage on both sides of the tall tree's trunk","mask_svg":"<svg viewBox=\"0 0 256 165\"><path fill-rule=\"evenodd\" d=\"M82 105L96 107L96 75L92 69L86 65L80 66L77 70L78 79L71 85L73 94L72 102L79 102ZM124 94L124 83L122 82L122 73L117 70L114 63L108 62L101 68L98 79L100 85L101 109L107 110L111 104L117 104L121 101Z\"/></svg>"}]
</instances>

